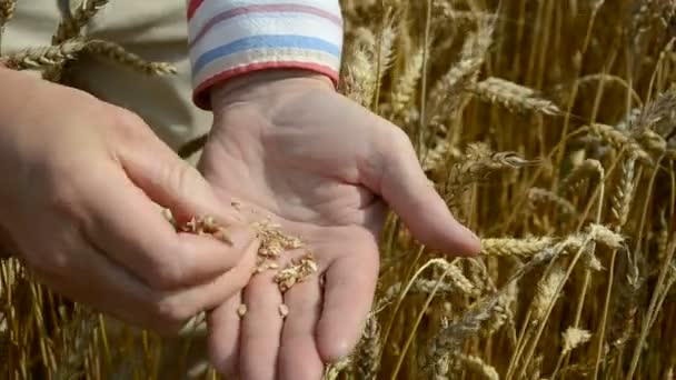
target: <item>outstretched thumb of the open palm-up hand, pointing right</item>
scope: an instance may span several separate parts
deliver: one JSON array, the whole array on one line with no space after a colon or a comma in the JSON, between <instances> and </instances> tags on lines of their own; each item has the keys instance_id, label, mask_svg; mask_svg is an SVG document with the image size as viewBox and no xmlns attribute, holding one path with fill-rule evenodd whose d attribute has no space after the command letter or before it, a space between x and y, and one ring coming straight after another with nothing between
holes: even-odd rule
<instances>
[{"instance_id":1,"label":"outstretched thumb of the open palm-up hand, pointing right","mask_svg":"<svg viewBox=\"0 0 676 380\"><path fill-rule=\"evenodd\" d=\"M480 251L479 239L460 224L425 176L409 138L386 123L385 138L376 138L371 159L361 173L366 184L382 196L424 244L449 253L469 256Z\"/></svg>"}]
</instances>

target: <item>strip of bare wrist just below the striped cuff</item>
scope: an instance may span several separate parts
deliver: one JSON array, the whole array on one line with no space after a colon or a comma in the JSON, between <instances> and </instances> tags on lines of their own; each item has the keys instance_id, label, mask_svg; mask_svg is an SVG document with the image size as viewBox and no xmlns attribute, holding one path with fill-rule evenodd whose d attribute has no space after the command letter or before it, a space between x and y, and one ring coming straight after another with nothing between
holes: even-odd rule
<instances>
[{"instance_id":1,"label":"strip of bare wrist just below the striped cuff","mask_svg":"<svg viewBox=\"0 0 676 380\"><path fill-rule=\"evenodd\" d=\"M257 103L261 109L272 109L299 91L335 91L330 78L307 70L264 70L231 79L211 89L210 98L215 117L237 103Z\"/></svg>"}]
</instances>

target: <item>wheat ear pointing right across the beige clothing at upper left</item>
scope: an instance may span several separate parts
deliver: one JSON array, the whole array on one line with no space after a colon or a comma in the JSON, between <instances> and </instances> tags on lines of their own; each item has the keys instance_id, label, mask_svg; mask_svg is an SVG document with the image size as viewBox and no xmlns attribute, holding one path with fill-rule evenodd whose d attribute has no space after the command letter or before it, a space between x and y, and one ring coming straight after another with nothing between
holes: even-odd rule
<instances>
[{"instance_id":1,"label":"wheat ear pointing right across the beige clothing at upper left","mask_svg":"<svg viewBox=\"0 0 676 380\"><path fill-rule=\"evenodd\" d=\"M177 69L168 62L149 62L139 56L125 50L123 47L109 41L91 40L87 43L87 51L105 57L123 66L130 67L133 70L152 76L173 74Z\"/></svg>"}]
</instances>

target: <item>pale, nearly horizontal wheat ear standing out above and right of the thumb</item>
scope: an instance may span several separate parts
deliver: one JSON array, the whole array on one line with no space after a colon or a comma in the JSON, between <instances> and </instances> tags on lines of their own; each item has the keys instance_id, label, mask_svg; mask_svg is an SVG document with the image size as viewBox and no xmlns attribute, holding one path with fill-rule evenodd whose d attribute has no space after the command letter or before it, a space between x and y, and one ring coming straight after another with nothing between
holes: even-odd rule
<instances>
[{"instance_id":1,"label":"pale, nearly horizontal wheat ear standing out above and right of the thumb","mask_svg":"<svg viewBox=\"0 0 676 380\"><path fill-rule=\"evenodd\" d=\"M480 99L498 103L510 111L535 111L545 114L559 114L560 110L551 101L537 98L535 91L527 87L501 78L490 77L467 88Z\"/></svg>"}]
</instances>

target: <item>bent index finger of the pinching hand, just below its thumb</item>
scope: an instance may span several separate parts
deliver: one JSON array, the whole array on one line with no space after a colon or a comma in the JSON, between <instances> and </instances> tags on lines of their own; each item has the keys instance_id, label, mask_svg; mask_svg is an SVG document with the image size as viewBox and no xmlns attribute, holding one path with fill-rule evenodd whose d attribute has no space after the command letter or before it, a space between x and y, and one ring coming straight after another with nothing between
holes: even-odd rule
<instances>
[{"instance_id":1,"label":"bent index finger of the pinching hand, just below its thumb","mask_svg":"<svg viewBox=\"0 0 676 380\"><path fill-rule=\"evenodd\" d=\"M158 208L119 170L88 183L86 232L112 260L157 289L207 281L232 268L255 239L248 228L232 228L232 246L211 237L176 233Z\"/></svg>"}]
</instances>

